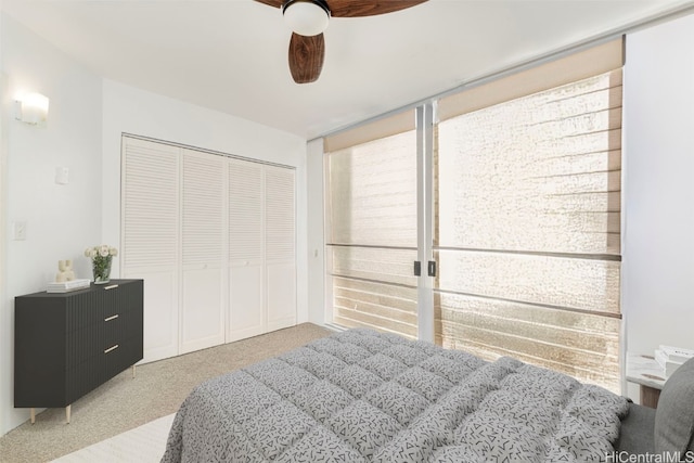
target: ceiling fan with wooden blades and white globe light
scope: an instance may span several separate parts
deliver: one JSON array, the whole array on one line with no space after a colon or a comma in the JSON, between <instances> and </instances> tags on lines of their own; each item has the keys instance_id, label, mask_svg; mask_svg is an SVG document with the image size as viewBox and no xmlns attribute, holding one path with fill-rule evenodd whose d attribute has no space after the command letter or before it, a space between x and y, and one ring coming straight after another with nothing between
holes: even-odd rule
<instances>
[{"instance_id":1,"label":"ceiling fan with wooden blades and white globe light","mask_svg":"<svg viewBox=\"0 0 694 463\"><path fill-rule=\"evenodd\" d=\"M282 10L292 28L290 70L297 83L316 81L323 68L323 31L331 16L359 17L394 13L427 0L256 0Z\"/></svg>"}]
</instances>

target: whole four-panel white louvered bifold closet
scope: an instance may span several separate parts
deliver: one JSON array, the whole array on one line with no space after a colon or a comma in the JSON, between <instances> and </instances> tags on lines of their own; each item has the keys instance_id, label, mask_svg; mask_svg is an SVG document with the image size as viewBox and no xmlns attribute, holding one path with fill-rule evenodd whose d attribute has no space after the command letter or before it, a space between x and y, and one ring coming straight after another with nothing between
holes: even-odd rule
<instances>
[{"instance_id":1,"label":"whole four-panel white louvered bifold closet","mask_svg":"<svg viewBox=\"0 0 694 463\"><path fill-rule=\"evenodd\" d=\"M144 362L296 324L295 170L123 137L123 278Z\"/></svg>"}]
</instances>

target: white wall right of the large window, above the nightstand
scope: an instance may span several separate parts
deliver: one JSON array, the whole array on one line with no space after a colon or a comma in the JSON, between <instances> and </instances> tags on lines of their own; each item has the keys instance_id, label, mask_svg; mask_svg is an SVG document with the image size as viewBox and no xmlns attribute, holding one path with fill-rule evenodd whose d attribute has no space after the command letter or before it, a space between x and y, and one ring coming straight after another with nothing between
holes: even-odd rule
<instances>
[{"instance_id":1,"label":"white wall right of the large window, above the nightstand","mask_svg":"<svg viewBox=\"0 0 694 463\"><path fill-rule=\"evenodd\" d=\"M630 352L694 348L692 43L694 15L627 37L621 275Z\"/></svg>"}]
</instances>

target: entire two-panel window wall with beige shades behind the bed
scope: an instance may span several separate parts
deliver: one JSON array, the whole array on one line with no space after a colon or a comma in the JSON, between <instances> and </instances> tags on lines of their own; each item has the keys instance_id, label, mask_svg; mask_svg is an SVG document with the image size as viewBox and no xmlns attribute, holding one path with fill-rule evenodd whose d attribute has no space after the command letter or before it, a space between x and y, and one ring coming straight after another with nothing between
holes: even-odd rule
<instances>
[{"instance_id":1,"label":"entire two-panel window wall with beige shades behind the bed","mask_svg":"<svg viewBox=\"0 0 694 463\"><path fill-rule=\"evenodd\" d=\"M334 323L618 391L621 50L329 137Z\"/></svg>"}]
</instances>

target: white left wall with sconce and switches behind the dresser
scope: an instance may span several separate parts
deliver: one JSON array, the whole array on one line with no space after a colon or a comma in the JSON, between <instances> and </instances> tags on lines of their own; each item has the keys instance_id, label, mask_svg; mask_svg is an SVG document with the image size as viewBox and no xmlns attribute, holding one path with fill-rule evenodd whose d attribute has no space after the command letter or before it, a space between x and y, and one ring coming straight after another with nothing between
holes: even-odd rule
<instances>
[{"instance_id":1,"label":"white left wall with sconce and switches behind the dresser","mask_svg":"<svg viewBox=\"0 0 694 463\"><path fill-rule=\"evenodd\" d=\"M101 234L101 79L50 43L2 14L3 131L7 172L4 292L0 299L0 435L28 417L14 409L14 297L46 290L57 260L74 259L89 276L83 248ZM46 127L14 120L12 101L23 91L50 99ZM69 183L54 182L56 167L69 168ZM13 241L12 222L25 220L27 237Z\"/></svg>"}]
</instances>

